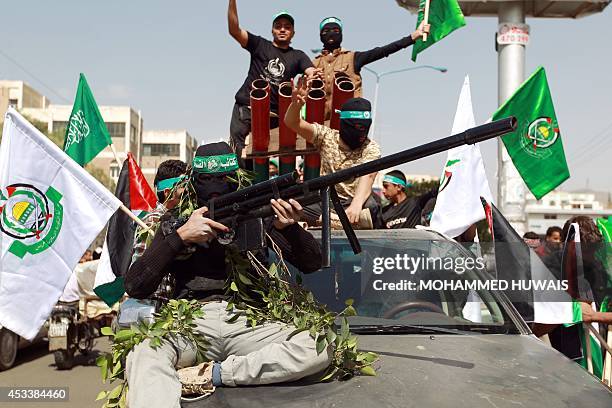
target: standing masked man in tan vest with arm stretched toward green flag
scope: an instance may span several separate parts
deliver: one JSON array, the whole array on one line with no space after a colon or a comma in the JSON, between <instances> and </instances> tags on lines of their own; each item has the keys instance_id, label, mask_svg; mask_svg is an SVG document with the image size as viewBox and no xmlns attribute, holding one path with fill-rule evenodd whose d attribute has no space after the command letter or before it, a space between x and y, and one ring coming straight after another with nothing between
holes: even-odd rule
<instances>
[{"instance_id":1,"label":"standing masked man in tan vest with arm stretched toward green flag","mask_svg":"<svg viewBox=\"0 0 612 408\"><path fill-rule=\"evenodd\" d=\"M329 119L331 116L329 96L332 94L337 73L346 74L355 85L355 96L361 96L361 68L411 46L424 33L429 33L429 24L421 23L408 37L368 51L349 51L341 47L342 21L337 17L323 19L319 24L319 32L323 50L315 57L314 66L323 72L325 93L328 95L325 118Z\"/></svg>"}]
</instances>

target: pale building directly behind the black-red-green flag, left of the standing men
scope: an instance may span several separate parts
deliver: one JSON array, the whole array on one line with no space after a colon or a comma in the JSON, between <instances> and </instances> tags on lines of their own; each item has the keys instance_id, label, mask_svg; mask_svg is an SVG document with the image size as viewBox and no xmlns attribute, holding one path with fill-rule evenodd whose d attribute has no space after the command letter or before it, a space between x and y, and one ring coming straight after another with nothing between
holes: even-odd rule
<instances>
[{"instance_id":1,"label":"pale building directly behind the black-red-green flag, left of the standing men","mask_svg":"<svg viewBox=\"0 0 612 408\"><path fill-rule=\"evenodd\" d=\"M161 162L182 160L191 164L197 148L196 139L186 130L147 130L142 137L142 172L153 186Z\"/></svg>"}]
</instances>

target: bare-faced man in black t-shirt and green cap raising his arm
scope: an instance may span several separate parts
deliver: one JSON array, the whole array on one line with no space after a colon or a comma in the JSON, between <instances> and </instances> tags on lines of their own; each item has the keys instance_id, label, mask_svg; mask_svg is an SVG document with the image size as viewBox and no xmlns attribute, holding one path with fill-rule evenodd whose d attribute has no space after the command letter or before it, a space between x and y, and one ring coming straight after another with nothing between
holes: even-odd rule
<instances>
[{"instance_id":1,"label":"bare-faced man in black t-shirt and green cap raising his arm","mask_svg":"<svg viewBox=\"0 0 612 408\"><path fill-rule=\"evenodd\" d=\"M236 93L236 103L230 123L231 145L240 159L245 138L251 132L250 92L256 79L264 79L270 84L270 110L278 112L278 86L290 81L298 74L309 77L316 75L308 56L290 47L295 35L294 19L286 11L281 11L272 20L272 37L269 41L240 27L236 0L229 1L227 25L230 35L240 46L251 54L247 77ZM278 127L278 118L272 118L270 128ZM247 163L247 167L251 167Z\"/></svg>"}]
</instances>

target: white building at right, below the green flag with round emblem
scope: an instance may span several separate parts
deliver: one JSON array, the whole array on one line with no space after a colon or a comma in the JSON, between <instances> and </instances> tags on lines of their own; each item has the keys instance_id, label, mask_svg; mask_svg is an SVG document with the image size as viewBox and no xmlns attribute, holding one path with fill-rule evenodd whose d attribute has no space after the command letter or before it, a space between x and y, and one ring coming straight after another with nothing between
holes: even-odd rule
<instances>
[{"instance_id":1,"label":"white building at right, below the green flag with round emblem","mask_svg":"<svg viewBox=\"0 0 612 408\"><path fill-rule=\"evenodd\" d=\"M527 230L544 235L549 227L563 228L577 215L593 219L612 216L612 208L607 207L608 203L598 201L594 192L551 191L541 200L529 194L525 206Z\"/></svg>"}]
</instances>

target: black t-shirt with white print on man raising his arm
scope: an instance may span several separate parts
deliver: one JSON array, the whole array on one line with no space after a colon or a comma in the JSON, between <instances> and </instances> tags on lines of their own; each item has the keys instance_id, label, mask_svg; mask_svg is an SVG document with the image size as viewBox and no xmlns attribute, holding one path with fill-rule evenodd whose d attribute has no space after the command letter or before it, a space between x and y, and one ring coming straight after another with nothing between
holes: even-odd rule
<instances>
[{"instance_id":1,"label":"black t-shirt with white print on man raising his arm","mask_svg":"<svg viewBox=\"0 0 612 408\"><path fill-rule=\"evenodd\" d=\"M251 54L251 63L247 78L236 93L236 102L240 105L250 104L251 83L256 79L265 79L270 82L272 90L270 107L276 111L278 86L312 67L312 61L303 51L275 47L271 41L255 34L249 33L246 50Z\"/></svg>"}]
</instances>

